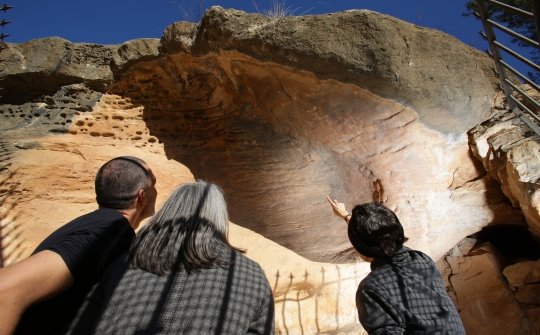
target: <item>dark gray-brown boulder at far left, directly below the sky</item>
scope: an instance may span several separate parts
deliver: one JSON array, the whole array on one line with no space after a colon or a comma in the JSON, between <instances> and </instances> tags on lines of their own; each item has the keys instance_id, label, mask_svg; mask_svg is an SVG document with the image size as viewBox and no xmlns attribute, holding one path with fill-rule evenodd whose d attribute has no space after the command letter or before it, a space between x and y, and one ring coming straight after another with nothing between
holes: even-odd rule
<instances>
[{"instance_id":1,"label":"dark gray-brown boulder at far left, directly below the sky","mask_svg":"<svg viewBox=\"0 0 540 335\"><path fill-rule=\"evenodd\" d=\"M113 51L112 46L74 44L58 37L4 43L0 47L0 103L30 102L76 83L103 92L113 81Z\"/></svg>"}]
</instances>

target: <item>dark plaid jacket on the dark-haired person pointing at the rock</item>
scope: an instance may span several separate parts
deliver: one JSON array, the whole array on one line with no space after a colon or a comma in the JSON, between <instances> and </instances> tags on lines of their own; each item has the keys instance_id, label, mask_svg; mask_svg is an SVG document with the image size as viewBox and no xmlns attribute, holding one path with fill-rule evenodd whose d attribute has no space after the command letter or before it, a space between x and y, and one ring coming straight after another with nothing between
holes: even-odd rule
<instances>
[{"instance_id":1,"label":"dark plaid jacket on the dark-haired person pointing at the rock","mask_svg":"<svg viewBox=\"0 0 540 335\"><path fill-rule=\"evenodd\" d=\"M433 260L406 247L371 263L356 305L369 334L465 334Z\"/></svg>"}]
</instances>

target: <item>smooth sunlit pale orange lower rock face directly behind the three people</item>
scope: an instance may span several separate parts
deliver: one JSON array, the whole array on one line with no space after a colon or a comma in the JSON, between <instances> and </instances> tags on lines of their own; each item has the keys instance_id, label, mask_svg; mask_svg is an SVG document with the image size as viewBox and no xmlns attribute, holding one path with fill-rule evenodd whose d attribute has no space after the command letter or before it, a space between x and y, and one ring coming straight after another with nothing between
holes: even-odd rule
<instances>
[{"instance_id":1,"label":"smooth sunlit pale orange lower rock face directly behind the three people","mask_svg":"<svg viewBox=\"0 0 540 335\"><path fill-rule=\"evenodd\" d=\"M114 120L125 104L118 96L106 95L96 106L96 118ZM90 115L90 113L88 114ZM126 131L144 132L145 125L135 110L126 110ZM79 117L77 121L86 120ZM73 124L77 123L75 121ZM117 120L118 121L118 120ZM99 132L107 132L108 128ZM114 126L113 126L114 127ZM159 207L173 189L193 181L182 164L165 157L163 146L116 136L89 133L51 134L17 139L10 133L0 142L1 259L10 264L26 257L54 229L96 208L93 193L95 172L105 161L119 155L134 155L147 161L157 177ZM105 149L105 150L104 150ZM247 256L262 266L274 292L277 329L290 334L363 334L358 324L354 292L369 272L367 263L325 264L300 257L294 252L251 230L230 227L231 243L247 250Z\"/></svg>"}]
</instances>

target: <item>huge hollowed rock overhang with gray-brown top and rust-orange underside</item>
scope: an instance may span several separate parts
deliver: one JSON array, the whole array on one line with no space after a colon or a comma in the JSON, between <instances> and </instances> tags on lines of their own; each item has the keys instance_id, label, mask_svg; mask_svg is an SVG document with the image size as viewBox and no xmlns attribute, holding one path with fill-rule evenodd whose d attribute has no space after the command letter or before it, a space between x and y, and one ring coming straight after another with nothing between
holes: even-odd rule
<instances>
[{"instance_id":1,"label":"huge hollowed rock overhang with gray-brown top and rust-orange underside","mask_svg":"<svg viewBox=\"0 0 540 335\"><path fill-rule=\"evenodd\" d=\"M66 131L161 142L195 177L224 186L233 221L313 260L354 257L326 194L349 206L384 201L435 257L512 220L466 147L495 95L478 51L371 11L272 20L212 8L198 27L166 32L159 44L108 46L98 61L107 85L93 89L125 98L147 129L104 118Z\"/></svg>"}]
</instances>

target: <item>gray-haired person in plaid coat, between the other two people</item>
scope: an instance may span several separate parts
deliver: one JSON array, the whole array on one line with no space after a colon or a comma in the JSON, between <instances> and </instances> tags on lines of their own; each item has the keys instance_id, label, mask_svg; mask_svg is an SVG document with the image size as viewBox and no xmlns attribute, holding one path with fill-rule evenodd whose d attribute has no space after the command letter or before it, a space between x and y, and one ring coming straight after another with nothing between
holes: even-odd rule
<instances>
[{"instance_id":1,"label":"gray-haired person in plaid coat, between the other two people","mask_svg":"<svg viewBox=\"0 0 540 335\"><path fill-rule=\"evenodd\" d=\"M177 188L87 298L70 333L273 334L260 266L228 241L220 188Z\"/></svg>"}]
</instances>

